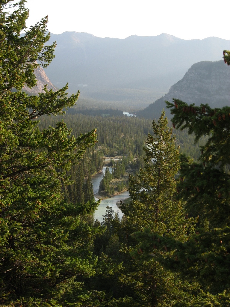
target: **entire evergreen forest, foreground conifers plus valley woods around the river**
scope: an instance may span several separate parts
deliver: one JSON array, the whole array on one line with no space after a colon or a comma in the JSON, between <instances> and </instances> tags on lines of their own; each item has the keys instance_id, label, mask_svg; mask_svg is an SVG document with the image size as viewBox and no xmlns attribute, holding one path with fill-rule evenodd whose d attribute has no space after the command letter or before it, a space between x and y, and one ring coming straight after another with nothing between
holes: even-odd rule
<instances>
[{"instance_id":1,"label":"entire evergreen forest, foreground conifers plus valley woods around the river","mask_svg":"<svg viewBox=\"0 0 230 307\"><path fill-rule=\"evenodd\" d=\"M27 95L56 43L25 3L0 4L0 306L230 306L230 107L174 99L168 122L77 113L67 85ZM130 201L100 223L105 157L101 190L132 170Z\"/></svg>"}]
</instances>

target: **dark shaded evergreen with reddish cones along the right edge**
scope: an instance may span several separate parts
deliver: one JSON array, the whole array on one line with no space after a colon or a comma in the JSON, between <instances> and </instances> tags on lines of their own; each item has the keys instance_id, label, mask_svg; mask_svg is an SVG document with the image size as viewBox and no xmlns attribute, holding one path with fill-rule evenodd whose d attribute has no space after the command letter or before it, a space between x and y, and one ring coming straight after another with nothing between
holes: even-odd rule
<instances>
[{"instance_id":1,"label":"dark shaded evergreen with reddish cones along the right edge","mask_svg":"<svg viewBox=\"0 0 230 307\"><path fill-rule=\"evenodd\" d=\"M229 51L224 51L228 65ZM212 109L173 99L167 103L172 122L181 130L188 128L200 146L198 163L185 155L181 157L178 199L187 200L189 216L199 215L196 233L183 246L178 246L178 260L186 279L200 283L203 301L200 306L230 305L229 271L229 210L230 210L230 107Z\"/></svg>"}]
</instances>

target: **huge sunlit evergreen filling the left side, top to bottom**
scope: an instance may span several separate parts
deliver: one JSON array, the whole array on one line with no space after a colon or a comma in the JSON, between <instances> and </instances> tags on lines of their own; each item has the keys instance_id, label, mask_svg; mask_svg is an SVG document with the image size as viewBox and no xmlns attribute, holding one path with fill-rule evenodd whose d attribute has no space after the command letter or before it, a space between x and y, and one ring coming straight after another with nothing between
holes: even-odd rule
<instances>
[{"instance_id":1,"label":"huge sunlit evergreen filling the left side, top to bottom","mask_svg":"<svg viewBox=\"0 0 230 307\"><path fill-rule=\"evenodd\" d=\"M44 46L47 17L20 35L25 2L0 3L0 305L82 305L91 300L82 278L96 263L86 217L97 204L68 204L61 186L71 183L65 172L96 135L75 138L63 120L38 128L42 115L62 115L79 92L67 98L67 86L44 87L38 96L22 91L36 85L33 70L50 63L56 45Z\"/></svg>"}]
</instances>

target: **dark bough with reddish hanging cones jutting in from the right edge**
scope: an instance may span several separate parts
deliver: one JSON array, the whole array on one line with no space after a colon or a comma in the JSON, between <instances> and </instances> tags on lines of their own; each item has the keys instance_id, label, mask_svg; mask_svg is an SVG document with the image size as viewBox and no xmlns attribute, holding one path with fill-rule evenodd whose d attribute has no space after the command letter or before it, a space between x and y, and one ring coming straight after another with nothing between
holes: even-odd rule
<instances>
[{"instance_id":1,"label":"dark bough with reddish hanging cones jutting in from the right edge","mask_svg":"<svg viewBox=\"0 0 230 307\"><path fill-rule=\"evenodd\" d=\"M177 129L188 128L188 133L195 135L195 142L203 135L209 136L205 146L201 148L201 158L207 165L218 164L223 168L228 164L230 107L212 109L208 104L196 107L194 104L187 105L179 99L174 99L174 104L166 103L174 115L172 122Z\"/></svg>"}]
</instances>

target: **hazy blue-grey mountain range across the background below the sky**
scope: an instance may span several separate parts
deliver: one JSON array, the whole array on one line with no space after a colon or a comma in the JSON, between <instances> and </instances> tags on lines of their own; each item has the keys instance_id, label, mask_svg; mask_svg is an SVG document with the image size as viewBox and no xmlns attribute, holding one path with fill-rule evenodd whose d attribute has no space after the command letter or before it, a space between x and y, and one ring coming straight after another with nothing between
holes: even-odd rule
<instances>
[{"instance_id":1,"label":"hazy blue-grey mountain range across the background below the sky","mask_svg":"<svg viewBox=\"0 0 230 307\"><path fill-rule=\"evenodd\" d=\"M136 101L146 107L180 80L196 62L216 61L230 41L217 37L183 40L166 33L158 36L100 38L89 33L52 34L55 59L45 70L56 87L69 83L69 92L81 97ZM114 103L116 108L116 103Z\"/></svg>"}]
</instances>

